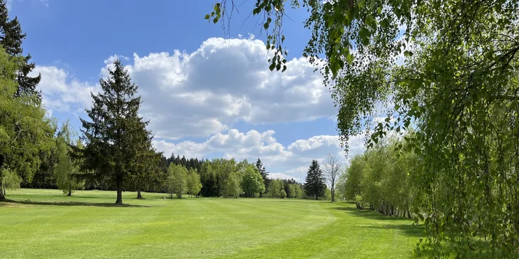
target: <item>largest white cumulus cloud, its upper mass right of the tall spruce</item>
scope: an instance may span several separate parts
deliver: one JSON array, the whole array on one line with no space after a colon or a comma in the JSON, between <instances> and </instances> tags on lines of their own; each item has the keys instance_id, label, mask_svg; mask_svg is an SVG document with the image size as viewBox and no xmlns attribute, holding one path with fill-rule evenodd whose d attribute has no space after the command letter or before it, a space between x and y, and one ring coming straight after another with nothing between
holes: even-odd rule
<instances>
[{"instance_id":1,"label":"largest white cumulus cloud, its upper mass right of the tall spruce","mask_svg":"<svg viewBox=\"0 0 519 259\"><path fill-rule=\"evenodd\" d=\"M111 62L106 60L101 75ZM125 66L143 96L141 112L163 139L208 137L235 122L315 120L336 115L322 76L306 58L268 70L269 53L254 38L209 38L192 53L150 53ZM133 61L133 62L132 62ZM181 125L181 127L179 127Z\"/></svg>"}]
</instances>

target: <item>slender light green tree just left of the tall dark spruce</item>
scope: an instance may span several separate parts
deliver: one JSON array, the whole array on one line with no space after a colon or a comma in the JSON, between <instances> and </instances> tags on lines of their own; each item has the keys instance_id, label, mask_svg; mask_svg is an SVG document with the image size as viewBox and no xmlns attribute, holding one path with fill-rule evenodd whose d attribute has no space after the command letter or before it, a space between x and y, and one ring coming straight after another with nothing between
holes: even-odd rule
<instances>
[{"instance_id":1,"label":"slender light green tree just left of the tall dark spruce","mask_svg":"<svg viewBox=\"0 0 519 259\"><path fill-rule=\"evenodd\" d=\"M63 191L63 194L67 194L67 196L72 196L73 191L83 189L85 185L85 181L78 179L76 176L79 172L79 166L71 158L71 146L76 144L79 149L82 148L82 144L78 139L74 143L75 138L76 134L67 120L61 125L61 129L56 137L57 163L54 167L56 184Z\"/></svg>"}]
</instances>

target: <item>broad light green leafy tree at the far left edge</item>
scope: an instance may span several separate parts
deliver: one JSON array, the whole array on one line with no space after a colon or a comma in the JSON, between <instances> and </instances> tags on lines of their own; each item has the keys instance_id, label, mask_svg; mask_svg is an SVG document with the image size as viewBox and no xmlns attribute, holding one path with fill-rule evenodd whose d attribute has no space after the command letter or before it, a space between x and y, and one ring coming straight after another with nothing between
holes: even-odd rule
<instances>
[{"instance_id":1,"label":"broad light green leafy tree at the far left edge","mask_svg":"<svg viewBox=\"0 0 519 259\"><path fill-rule=\"evenodd\" d=\"M0 168L31 182L41 164L40 152L53 146L54 128L34 96L16 95L16 72L22 65L20 57L0 48ZM0 200L5 199L3 190L0 186Z\"/></svg>"}]
</instances>

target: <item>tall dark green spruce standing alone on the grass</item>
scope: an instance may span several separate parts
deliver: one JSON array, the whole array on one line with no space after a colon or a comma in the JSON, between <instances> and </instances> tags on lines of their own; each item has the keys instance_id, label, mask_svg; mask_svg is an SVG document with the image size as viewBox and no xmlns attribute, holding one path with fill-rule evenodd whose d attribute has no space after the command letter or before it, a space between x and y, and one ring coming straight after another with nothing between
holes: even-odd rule
<instances>
[{"instance_id":1,"label":"tall dark green spruce standing alone on the grass","mask_svg":"<svg viewBox=\"0 0 519 259\"><path fill-rule=\"evenodd\" d=\"M83 120L81 132L86 143L83 149L75 149L83 170L93 171L98 179L108 179L115 184L117 200L123 203L123 189L131 183L132 176L145 168L143 154L150 154L151 132L138 116L140 97L135 97L137 85L119 60L109 71L109 77L101 78L101 92L91 94L93 105L86 113L91 121Z\"/></svg>"}]
</instances>

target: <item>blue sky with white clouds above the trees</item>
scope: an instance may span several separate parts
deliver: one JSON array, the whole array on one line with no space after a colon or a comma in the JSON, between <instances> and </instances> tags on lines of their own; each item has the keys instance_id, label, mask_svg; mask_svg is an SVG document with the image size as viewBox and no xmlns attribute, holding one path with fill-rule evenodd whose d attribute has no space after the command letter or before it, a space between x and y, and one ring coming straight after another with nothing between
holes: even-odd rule
<instances>
[{"instance_id":1,"label":"blue sky with white clouds above the trees","mask_svg":"<svg viewBox=\"0 0 519 259\"><path fill-rule=\"evenodd\" d=\"M60 123L70 120L79 131L91 93L118 58L166 157L260 157L271 177L298 181L312 159L335 153L346 162L332 97L302 57L310 35L305 11L287 12L288 69L270 72L266 33L250 15L255 1L235 0L229 30L204 20L214 2L8 1L27 34L33 73L41 73L43 104ZM349 145L349 157L362 152L364 136Z\"/></svg>"}]
</instances>

